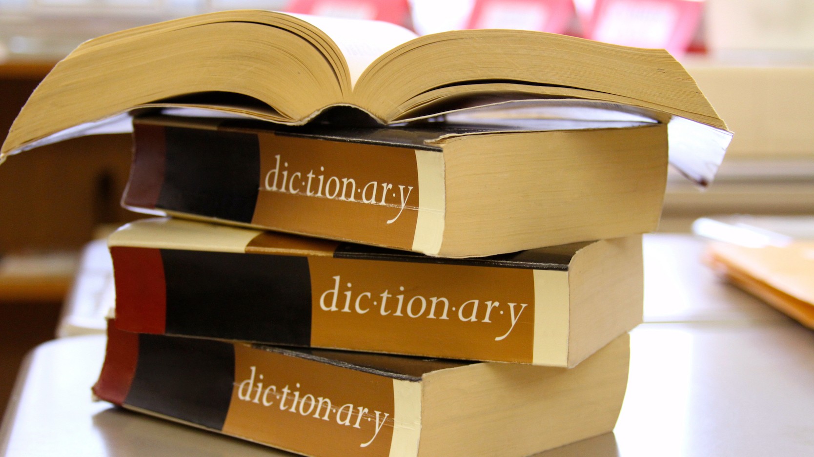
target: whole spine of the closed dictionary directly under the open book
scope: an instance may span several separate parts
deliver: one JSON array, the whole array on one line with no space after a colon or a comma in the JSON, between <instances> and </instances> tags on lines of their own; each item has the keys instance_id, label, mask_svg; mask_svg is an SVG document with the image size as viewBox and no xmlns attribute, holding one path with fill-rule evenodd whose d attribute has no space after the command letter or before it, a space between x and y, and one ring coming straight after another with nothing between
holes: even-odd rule
<instances>
[{"instance_id":1,"label":"whole spine of the closed dictionary directly under the open book","mask_svg":"<svg viewBox=\"0 0 814 457\"><path fill-rule=\"evenodd\" d=\"M440 248L439 151L139 123L134 138L123 198L131 208L422 253ZM422 195L419 183L433 192Z\"/></svg>"}]
</instances>

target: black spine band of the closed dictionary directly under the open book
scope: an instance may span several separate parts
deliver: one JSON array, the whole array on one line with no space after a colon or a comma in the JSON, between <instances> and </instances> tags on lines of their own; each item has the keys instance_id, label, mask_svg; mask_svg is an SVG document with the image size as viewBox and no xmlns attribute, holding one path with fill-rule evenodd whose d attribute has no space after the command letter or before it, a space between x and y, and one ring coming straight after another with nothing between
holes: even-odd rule
<instances>
[{"instance_id":1,"label":"black spine band of the closed dictionary directly under the open book","mask_svg":"<svg viewBox=\"0 0 814 457\"><path fill-rule=\"evenodd\" d=\"M260 189L257 135L165 129L167 162L156 206L209 218L252 222Z\"/></svg>"}]
</instances>

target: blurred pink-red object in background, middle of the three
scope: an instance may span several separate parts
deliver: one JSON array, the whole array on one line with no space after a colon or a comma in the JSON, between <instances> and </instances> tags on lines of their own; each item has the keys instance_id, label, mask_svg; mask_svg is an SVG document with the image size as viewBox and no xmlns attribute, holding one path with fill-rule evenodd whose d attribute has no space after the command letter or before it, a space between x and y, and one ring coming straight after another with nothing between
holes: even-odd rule
<instances>
[{"instance_id":1,"label":"blurred pink-red object in background, middle of the three","mask_svg":"<svg viewBox=\"0 0 814 457\"><path fill-rule=\"evenodd\" d=\"M467 28L564 33L573 17L572 0L475 0Z\"/></svg>"}]
</instances>

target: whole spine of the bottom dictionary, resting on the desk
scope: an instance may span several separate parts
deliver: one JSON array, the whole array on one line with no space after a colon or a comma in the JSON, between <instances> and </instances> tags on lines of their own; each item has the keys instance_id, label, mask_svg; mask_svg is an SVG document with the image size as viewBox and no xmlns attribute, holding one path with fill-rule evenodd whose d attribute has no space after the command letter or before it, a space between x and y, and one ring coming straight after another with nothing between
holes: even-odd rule
<instances>
[{"instance_id":1,"label":"whole spine of the bottom dictionary, resting on the desk","mask_svg":"<svg viewBox=\"0 0 814 457\"><path fill-rule=\"evenodd\" d=\"M420 414L418 382L241 343L111 327L94 394L304 455L387 456L418 442L420 416L405 416Z\"/></svg>"}]
</instances>

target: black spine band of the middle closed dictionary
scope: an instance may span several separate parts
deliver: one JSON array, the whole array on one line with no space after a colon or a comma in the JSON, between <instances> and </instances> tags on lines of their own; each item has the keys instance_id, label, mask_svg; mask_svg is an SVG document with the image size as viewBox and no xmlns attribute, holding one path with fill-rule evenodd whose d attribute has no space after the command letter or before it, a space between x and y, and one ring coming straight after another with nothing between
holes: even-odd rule
<instances>
[{"instance_id":1,"label":"black spine band of the middle closed dictionary","mask_svg":"<svg viewBox=\"0 0 814 457\"><path fill-rule=\"evenodd\" d=\"M161 258L167 333L310 344L307 257L162 249Z\"/></svg>"}]
</instances>

